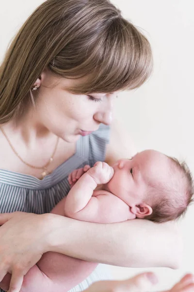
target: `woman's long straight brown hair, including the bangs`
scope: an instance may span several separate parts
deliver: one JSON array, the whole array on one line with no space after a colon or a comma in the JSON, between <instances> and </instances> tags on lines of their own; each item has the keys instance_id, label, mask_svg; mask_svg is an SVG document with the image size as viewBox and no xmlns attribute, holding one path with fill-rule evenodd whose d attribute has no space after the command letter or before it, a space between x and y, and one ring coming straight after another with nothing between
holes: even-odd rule
<instances>
[{"instance_id":1,"label":"woman's long straight brown hair, including the bangs","mask_svg":"<svg viewBox=\"0 0 194 292\"><path fill-rule=\"evenodd\" d=\"M135 89L152 70L146 37L109 0L47 0L23 24L0 66L0 124L26 109L44 69L87 81L75 94Z\"/></svg>"}]
</instances>

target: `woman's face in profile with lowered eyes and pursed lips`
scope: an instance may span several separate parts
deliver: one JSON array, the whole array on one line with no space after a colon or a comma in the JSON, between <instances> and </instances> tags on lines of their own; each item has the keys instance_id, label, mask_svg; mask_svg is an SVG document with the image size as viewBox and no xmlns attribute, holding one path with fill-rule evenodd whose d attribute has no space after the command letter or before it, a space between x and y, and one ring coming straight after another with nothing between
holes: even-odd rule
<instances>
[{"instance_id":1,"label":"woman's face in profile with lowered eyes and pursed lips","mask_svg":"<svg viewBox=\"0 0 194 292\"><path fill-rule=\"evenodd\" d=\"M76 142L80 135L97 130L100 123L110 125L112 121L116 92L88 96L65 90L78 82L81 80L54 78L44 71L35 82L39 86L37 92L33 91L37 94L36 116L40 123L66 142Z\"/></svg>"}]
</instances>

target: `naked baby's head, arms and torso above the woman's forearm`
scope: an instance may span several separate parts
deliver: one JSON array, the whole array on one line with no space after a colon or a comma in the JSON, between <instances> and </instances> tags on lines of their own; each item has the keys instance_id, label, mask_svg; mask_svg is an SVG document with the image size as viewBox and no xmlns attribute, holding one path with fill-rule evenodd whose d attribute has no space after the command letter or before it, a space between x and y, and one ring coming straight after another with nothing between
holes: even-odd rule
<instances>
[{"instance_id":1,"label":"naked baby's head, arms and torso above the woman's forearm","mask_svg":"<svg viewBox=\"0 0 194 292\"><path fill-rule=\"evenodd\" d=\"M177 219L193 194L186 165L155 150L121 159L113 167L102 162L86 165L70 174L69 183L77 179L65 201L65 216L92 222ZM95 190L99 184L100 190Z\"/></svg>"}]
</instances>

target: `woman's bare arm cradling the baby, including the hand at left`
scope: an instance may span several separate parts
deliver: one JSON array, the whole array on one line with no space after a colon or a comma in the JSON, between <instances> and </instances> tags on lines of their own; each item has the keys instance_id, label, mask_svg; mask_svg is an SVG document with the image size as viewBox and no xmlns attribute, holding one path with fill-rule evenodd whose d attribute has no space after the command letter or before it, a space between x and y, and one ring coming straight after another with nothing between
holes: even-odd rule
<instances>
[{"instance_id":1,"label":"woman's bare arm cradling the baby, including the hand at left","mask_svg":"<svg viewBox=\"0 0 194 292\"><path fill-rule=\"evenodd\" d=\"M117 266L174 269L182 255L173 222L135 219L100 224L15 212L0 214L0 225L0 281L12 274L9 292L19 292L23 276L48 251Z\"/></svg>"}]
</instances>

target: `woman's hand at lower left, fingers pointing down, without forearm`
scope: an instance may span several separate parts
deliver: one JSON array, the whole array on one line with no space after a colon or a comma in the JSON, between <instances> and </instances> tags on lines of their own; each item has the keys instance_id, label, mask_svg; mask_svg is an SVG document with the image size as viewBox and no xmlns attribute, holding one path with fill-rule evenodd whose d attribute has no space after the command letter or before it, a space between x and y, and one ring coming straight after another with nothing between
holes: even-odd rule
<instances>
[{"instance_id":1,"label":"woman's hand at lower left, fingers pointing down, without forearm","mask_svg":"<svg viewBox=\"0 0 194 292\"><path fill-rule=\"evenodd\" d=\"M19 292L24 275L46 252L46 215L0 214L0 281L12 274L9 292Z\"/></svg>"}]
</instances>

